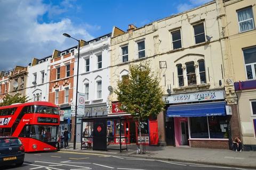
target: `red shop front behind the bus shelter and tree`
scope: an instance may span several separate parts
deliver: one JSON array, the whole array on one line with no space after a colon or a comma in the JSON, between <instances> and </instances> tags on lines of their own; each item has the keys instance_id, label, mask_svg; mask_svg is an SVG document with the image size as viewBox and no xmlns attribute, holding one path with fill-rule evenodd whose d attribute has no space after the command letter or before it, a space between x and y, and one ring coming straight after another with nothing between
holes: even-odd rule
<instances>
[{"instance_id":1,"label":"red shop front behind the bus shelter and tree","mask_svg":"<svg viewBox=\"0 0 256 170\"><path fill-rule=\"evenodd\" d=\"M127 144L137 143L139 140L139 124L138 121L133 120L131 114L119 109L119 103L112 103L112 113L108 116L122 116L123 121L113 120L107 122L107 135L109 137L119 137L121 130L121 137L127 137ZM121 123L121 125L120 125ZM146 145L158 145L158 125L157 119L149 118L141 122L141 136ZM108 141L109 143L119 144L119 139ZM126 140L122 139L122 143L126 144Z\"/></svg>"}]
</instances>

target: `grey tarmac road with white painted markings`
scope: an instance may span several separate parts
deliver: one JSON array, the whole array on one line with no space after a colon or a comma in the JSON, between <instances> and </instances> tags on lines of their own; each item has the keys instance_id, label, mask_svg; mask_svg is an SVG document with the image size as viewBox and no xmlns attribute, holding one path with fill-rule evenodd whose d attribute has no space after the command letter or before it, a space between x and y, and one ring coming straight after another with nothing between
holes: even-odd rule
<instances>
[{"instance_id":1,"label":"grey tarmac road with white painted markings","mask_svg":"<svg viewBox=\"0 0 256 170\"><path fill-rule=\"evenodd\" d=\"M169 162L154 159L113 156L107 154L94 154L82 152L43 152L25 155L25 162L20 167L2 167L1 169L47 169L47 170L82 170L82 169L123 169L123 170L211 170L211 169L241 169L213 165Z\"/></svg>"}]
</instances>

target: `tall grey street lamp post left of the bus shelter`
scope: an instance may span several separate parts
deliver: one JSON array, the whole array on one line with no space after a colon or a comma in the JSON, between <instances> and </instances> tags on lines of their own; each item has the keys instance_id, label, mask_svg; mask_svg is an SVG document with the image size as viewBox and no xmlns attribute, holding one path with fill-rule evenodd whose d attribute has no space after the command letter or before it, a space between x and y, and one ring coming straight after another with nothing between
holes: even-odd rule
<instances>
[{"instance_id":1,"label":"tall grey street lamp post left of the bus shelter","mask_svg":"<svg viewBox=\"0 0 256 170\"><path fill-rule=\"evenodd\" d=\"M63 33L63 36L68 38L73 38L67 33ZM77 55L77 73L76 73L76 104L75 104L75 130L74 130L74 146L73 149L76 149L76 115L77 115L77 98L78 98L78 70L79 70L79 52L80 52L80 41L78 39L73 38L74 40L78 41L78 55Z\"/></svg>"}]
</instances>

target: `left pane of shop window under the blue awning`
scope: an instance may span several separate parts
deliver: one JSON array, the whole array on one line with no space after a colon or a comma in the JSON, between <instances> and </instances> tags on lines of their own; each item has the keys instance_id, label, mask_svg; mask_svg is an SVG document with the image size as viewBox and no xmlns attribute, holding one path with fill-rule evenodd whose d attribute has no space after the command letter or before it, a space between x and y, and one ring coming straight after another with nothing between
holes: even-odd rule
<instances>
[{"instance_id":1,"label":"left pane of shop window under the blue awning","mask_svg":"<svg viewBox=\"0 0 256 170\"><path fill-rule=\"evenodd\" d=\"M190 138L209 138L207 117L190 118Z\"/></svg>"}]
</instances>

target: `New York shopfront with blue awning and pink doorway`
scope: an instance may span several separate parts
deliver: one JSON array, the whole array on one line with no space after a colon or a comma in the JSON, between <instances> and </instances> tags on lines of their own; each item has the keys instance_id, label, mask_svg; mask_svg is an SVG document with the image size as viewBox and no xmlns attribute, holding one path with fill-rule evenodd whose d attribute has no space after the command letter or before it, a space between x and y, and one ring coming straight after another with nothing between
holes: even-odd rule
<instances>
[{"instance_id":1,"label":"New York shopfront with blue awning and pink doorway","mask_svg":"<svg viewBox=\"0 0 256 170\"><path fill-rule=\"evenodd\" d=\"M229 149L231 113L223 91L173 95L165 100L170 104L166 120L173 118L175 146Z\"/></svg>"}]
</instances>

